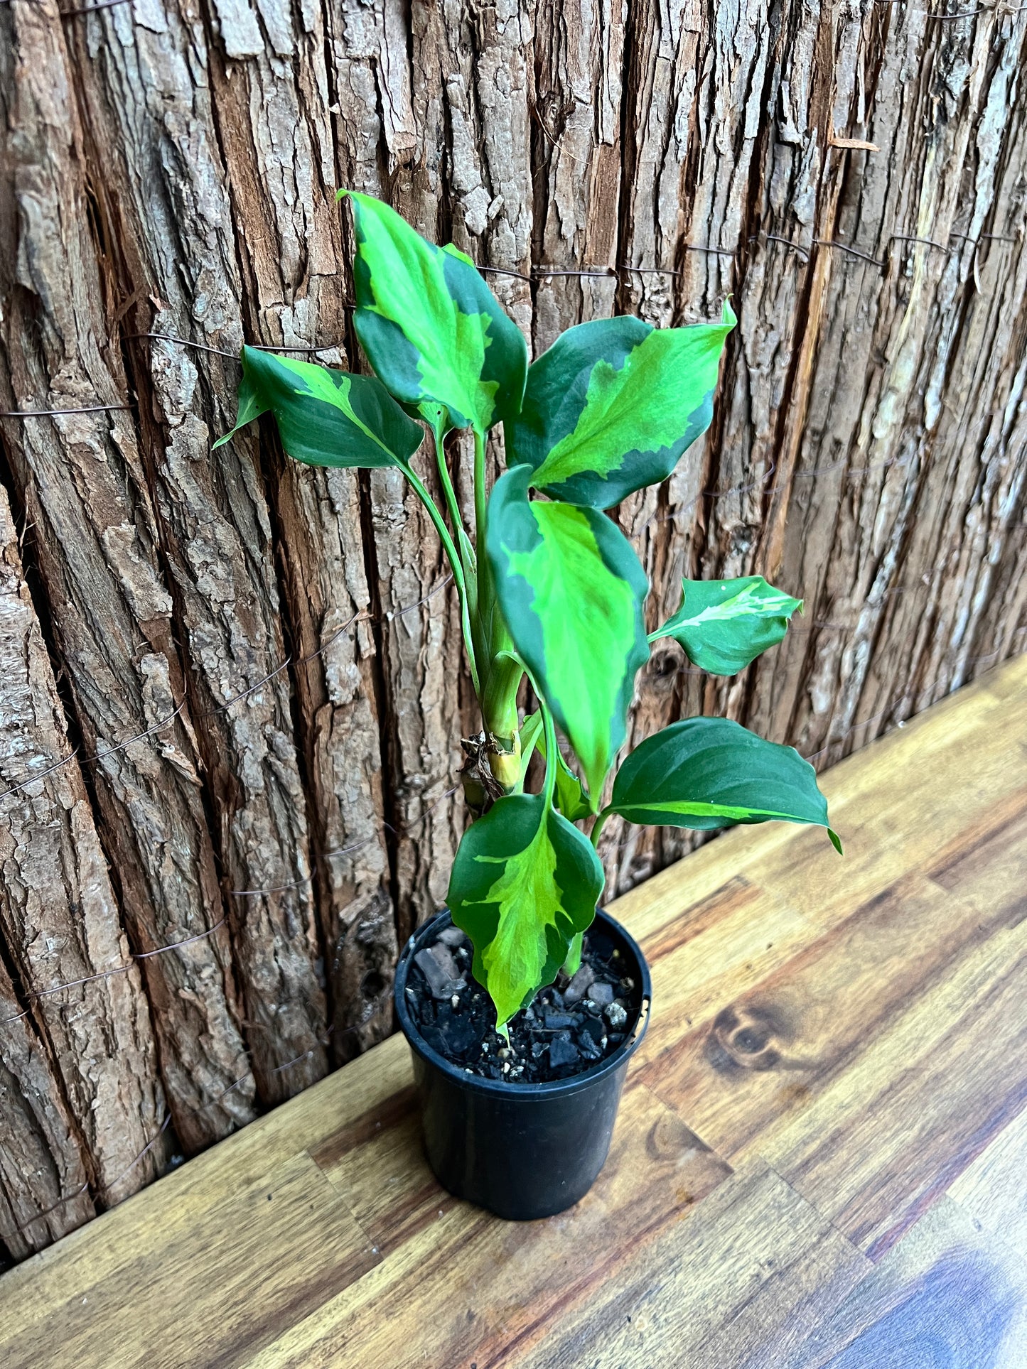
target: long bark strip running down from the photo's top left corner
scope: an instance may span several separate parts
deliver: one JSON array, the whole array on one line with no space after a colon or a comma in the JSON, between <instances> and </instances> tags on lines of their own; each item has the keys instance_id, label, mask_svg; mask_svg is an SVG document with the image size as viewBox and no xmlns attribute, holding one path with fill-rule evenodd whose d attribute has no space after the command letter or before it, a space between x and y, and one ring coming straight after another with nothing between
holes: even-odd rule
<instances>
[{"instance_id":1,"label":"long bark strip running down from the photo's top left corner","mask_svg":"<svg viewBox=\"0 0 1027 1369\"><path fill-rule=\"evenodd\" d=\"M171 597L123 412L125 375L108 342L62 21L52 4L14 0L0 26L3 407L115 405L4 419L4 448L82 750L108 753L90 771L99 830L133 949L147 951L223 919L203 763L188 711L175 716L185 695ZM142 965L164 1088L179 1140L193 1150L253 1116L227 936L222 928Z\"/></svg>"}]
</instances>

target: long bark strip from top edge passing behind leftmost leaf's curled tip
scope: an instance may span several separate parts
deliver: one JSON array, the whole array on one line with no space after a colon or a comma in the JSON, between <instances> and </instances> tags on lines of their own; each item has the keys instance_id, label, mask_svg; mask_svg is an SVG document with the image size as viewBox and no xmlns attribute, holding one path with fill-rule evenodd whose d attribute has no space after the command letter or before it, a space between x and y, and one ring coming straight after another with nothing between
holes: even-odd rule
<instances>
[{"instance_id":1,"label":"long bark strip from top edge passing behind leftmost leaf's curled tip","mask_svg":"<svg viewBox=\"0 0 1027 1369\"><path fill-rule=\"evenodd\" d=\"M264 51L246 12L233 10L240 27L225 34L230 56L257 42ZM84 16L75 34L89 144L94 156L110 153L96 190L127 331L238 352L238 245L199 15L189 5L138 14L118 7ZM274 26L267 40L285 41ZM281 70L277 59L267 62L271 75ZM268 138L294 115L275 110L274 93L255 94L262 114L274 115ZM289 170L283 157L277 171ZM311 186L293 183L290 194L305 203ZM266 205L257 197L255 238ZM304 253L311 229L301 225ZM138 341L133 359L147 475L218 823L248 1047L260 1097L274 1102L320 1077L327 1057L271 513L256 439L211 452L234 420L238 364L153 340Z\"/></svg>"}]
</instances>

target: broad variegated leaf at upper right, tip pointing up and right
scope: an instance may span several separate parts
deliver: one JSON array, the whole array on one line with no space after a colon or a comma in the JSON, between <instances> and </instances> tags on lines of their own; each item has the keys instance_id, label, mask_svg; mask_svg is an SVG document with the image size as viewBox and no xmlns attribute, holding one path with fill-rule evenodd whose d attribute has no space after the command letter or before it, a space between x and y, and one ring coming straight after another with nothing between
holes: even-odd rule
<instances>
[{"instance_id":1,"label":"broad variegated leaf at upper right, tip pointing up and right","mask_svg":"<svg viewBox=\"0 0 1027 1369\"><path fill-rule=\"evenodd\" d=\"M582 323L527 374L507 424L509 465L531 467L552 498L611 508L665 479L709 427L720 353L737 319L653 329L641 319Z\"/></svg>"}]
</instances>

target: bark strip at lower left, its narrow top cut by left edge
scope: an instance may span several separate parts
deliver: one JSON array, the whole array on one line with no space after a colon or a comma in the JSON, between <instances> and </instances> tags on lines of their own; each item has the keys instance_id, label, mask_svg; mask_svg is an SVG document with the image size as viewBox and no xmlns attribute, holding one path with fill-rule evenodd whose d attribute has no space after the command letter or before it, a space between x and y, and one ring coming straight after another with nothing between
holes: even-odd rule
<instances>
[{"instance_id":1,"label":"bark strip at lower left, its narrow top cut by left edge","mask_svg":"<svg viewBox=\"0 0 1027 1369\"><path fill-rule=\"evenodd\" d=\"M0 799L0 930L90 1172L104 1201L116 1202L159 1172L157 1149L134 1161L160 1129L164 1097L147 997L71 757L3 486L0 757L0 789L15 789ZM16 787L40 771L49 773ZM74 987L55 993L62 984Z\"/></svg>"}]
</instances>

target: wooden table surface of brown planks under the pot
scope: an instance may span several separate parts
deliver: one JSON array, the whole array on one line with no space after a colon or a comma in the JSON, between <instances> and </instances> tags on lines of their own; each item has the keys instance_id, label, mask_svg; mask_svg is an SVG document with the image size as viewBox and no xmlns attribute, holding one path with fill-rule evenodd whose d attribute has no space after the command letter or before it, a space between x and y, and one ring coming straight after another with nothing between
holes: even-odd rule
<instances>
[{"instance_id":1,"label":"wooden table surface of brown planks under the pot","mask_svg":"<svg viewBox=\"0 0 1027 1369\"><path fill-rule=\"evenodd\" d=\"M4 1369L1023 1369L1027 657L613 912L653 972L613 1146L503 1223L371 1050L0 1279Z\"/></svg>"}]
</instances>

